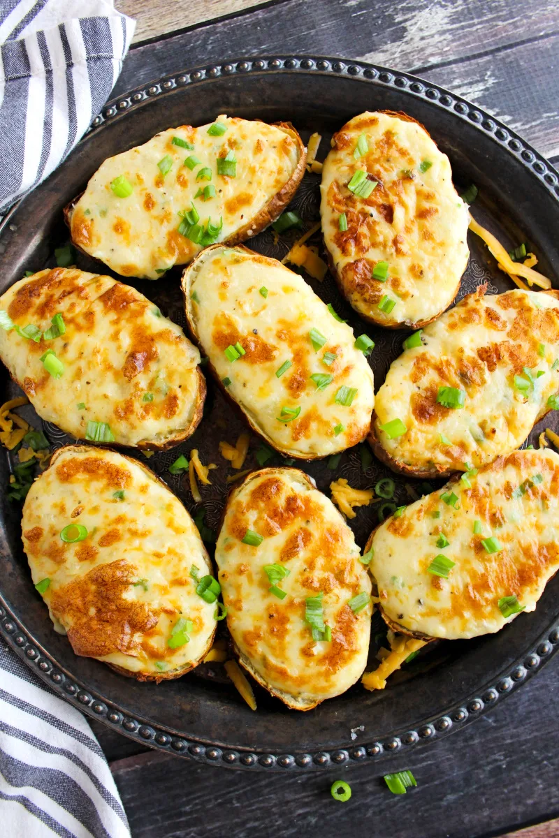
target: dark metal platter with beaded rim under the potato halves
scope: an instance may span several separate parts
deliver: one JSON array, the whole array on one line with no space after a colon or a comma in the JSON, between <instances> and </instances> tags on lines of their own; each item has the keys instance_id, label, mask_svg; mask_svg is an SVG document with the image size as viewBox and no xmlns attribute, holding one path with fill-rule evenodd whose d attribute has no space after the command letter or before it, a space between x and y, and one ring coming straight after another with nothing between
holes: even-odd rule
<instances>
[{"instance_id":1,"label":"dark metal platter with beaded rim under the potato halves","mask_svg":"<svg viewBox=\"0 0 559 838\"><path fill-rule=\"evenodd\" d=\"M132 91L106 106L64 165L24 199L0 227L0 292L24 271L54 264L54 247L67 241L62 208L84 188L99 164L112 154L145 142L163 128L210 122L220 112L267 122L290 120L305 139L313 131L323 135L319 154L323 158L331 133L366 109L406 111L422 122L451 158L458 189L472 182L479 186L474 215L505 245L528 242L540 258L539 269L550 277L559 276L559 177L520 137L467 101L411 75L338 59L273 58L184 72L146 90ZM318 181L316 175L305 175L293 202L307 227L318 219ZM274 246L271 232L265 231L251 240L250 246L281 258L293 238L285 235ZM511 287L480 245L471 236L471 258L459 296L474 290L480 282L488 282L488 291L493 293ZM78 265L106 272L86 257L79 256ZM322 284L307 279L349 320L356 334L366 331L375 340L371 365L378 388L391 360L401 351L405 333L366 327L339 297L330 277ZM184 325L178 280L179 272L174 272L159 282L133 284ZM3 376L5 390L9 396L14 395L17 388L8 382L5 370ZM26 410L28 418L40 427L31 408ZM554 421L548 417L546 424ZM191 447L198 447L205 463L220 464L211 473L212 486L203 489L206 521L214 527L225 499L228 473L218 442L235 439L241 430L243 423L209 382L204 420L194 437L172 452L156 454L149 460L194 512L198 507L192 504L187 487L166 470L169 463L181 451L188 453ZM540 431L536 428L528 442L537 446ZM68 441L56 427L44 426L44 432L54 447ZM253 440L247 467L256 465L257 447L259 443ZM2 485L7 484L8 468L8 459L2 458ZM365 487L387 473L375 459L363 470L359 447L344 453L335 470L329 470L325 462L304 468L324 491L338 476ZM417 481L408 484L417 488ZM436 488L438 484L432 485ZM397 481L396 499L399 503L410 500L403 479ZM256 688L258 711L253 713L227 683L219 666L204 665L179 680L153 685L116 675L96 660L76 657L70 644L54 634L47 610L31 584L21 549L19 520L19 507L3 499L3 638L80 710L127 736L202 761L252 770L308 770L388 758L391 753L463 727L538 670L559 646L559 580L555 579L547 586L535 613L520 615L499 634L438 644L391 678L386 691L371 693L358 684L344 696L300 713L287 710ZM374 507L362 508L351 522L361 546L375 524ZM375 622L373 634L379 630ZM371 660L375 649L372 644Z\"/></svg>"}]
</instances>

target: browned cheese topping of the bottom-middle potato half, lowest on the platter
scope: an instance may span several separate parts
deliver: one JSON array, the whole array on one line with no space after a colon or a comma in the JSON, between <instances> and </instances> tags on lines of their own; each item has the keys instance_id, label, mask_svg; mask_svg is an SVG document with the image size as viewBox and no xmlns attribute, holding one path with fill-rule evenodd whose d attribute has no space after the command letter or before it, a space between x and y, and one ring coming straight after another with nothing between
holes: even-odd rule
<instances>
[{"instance_id":1,"label":"browned cheese topping of the bottom-middle potato half, lowest on the platter","mask_svg":"<svg viewBox=\"0 0 559 838\"><path fill-rule=\"evenodd\" d=\"M243 544L246 530L263 536ZM303 472L265 468L230 497L215 548L227 608L227 625L241 663L267 690L290 706L309 709L339 696L365 669L371 603L360 612L349 599L370 594L359 547L342 516ZM278 563L290 575L268 591L264 566ZM323 619L332 641L314 641L305 622L305 599L323 592Z\"/></svg>"}]
</instances>

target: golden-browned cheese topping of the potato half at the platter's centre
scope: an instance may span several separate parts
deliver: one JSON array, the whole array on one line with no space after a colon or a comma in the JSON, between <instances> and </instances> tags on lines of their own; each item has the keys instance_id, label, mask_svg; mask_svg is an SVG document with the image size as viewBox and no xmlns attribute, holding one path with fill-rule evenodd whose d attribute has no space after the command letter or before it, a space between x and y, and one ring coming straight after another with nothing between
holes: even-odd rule
<instances>
[{"instance_id":1,"label":"golden-browned cheese topping of the potato half at the platter's centre","mask_svg":"<svg viewBox=\"0 0 559 838\"><path fill-rule=\"evenodd\" d=\"M215 247L185 272L184 286L194 334L215 374L230 379L228 393L272 446L293 457L324 457L366 436L374 405L370 366L349 326L302 277L244 248ZM309 337L313 328L325 339L318 350ZM231 362L225 349L237 342L245 354ZM327 352L337 356L331 365L323 361ZM291 365L277 377L286 362ZM332 381L320 390L310 379L315 373ZM351 406L335 402L343 385L357 389ZM296 418L280 421L282 408L298 407Z\"/></svg>"}]
</instances>

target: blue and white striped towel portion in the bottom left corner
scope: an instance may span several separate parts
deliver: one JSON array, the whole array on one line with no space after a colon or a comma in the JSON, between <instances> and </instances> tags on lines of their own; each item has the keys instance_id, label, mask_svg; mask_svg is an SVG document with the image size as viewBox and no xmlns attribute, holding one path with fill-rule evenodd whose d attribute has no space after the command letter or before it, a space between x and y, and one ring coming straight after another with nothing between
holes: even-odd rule
<instances>
[{"instance_id":1,"label":"blue and white striped towel portion in the bottom left corner","mask_svg":"<svg viewBox=\"0 0 559 838\"><path fill-rule=\"evenodd\" d=\"M81 713L0 641L0 835L130 838L106 759Z\"/></svg>"}]
</instances>

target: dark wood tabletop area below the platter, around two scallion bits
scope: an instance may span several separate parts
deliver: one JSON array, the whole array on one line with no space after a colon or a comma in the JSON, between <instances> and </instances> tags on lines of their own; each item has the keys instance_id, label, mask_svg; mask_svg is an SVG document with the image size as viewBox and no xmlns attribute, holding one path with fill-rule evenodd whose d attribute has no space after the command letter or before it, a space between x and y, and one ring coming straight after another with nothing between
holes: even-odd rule
<instances>
[{"instance_id":1,"label":"dark wood tabletop area below the platter, around two scallion bits","mask_svg":"<svg viewBox=\"0 0 559 838\"><path fill-rule=\"evenodd\" d=\"M248 838L272 830L299 838L317 829L323 838L514 833L559 811L558 689L555 660L462 732L380 765L272 776L145 753L111 768L135 838L221 838L231 831ZM396 798L382 774L404 768L417 789ZM352 788L343 805L329 794L336 779ZM537 829L515 838L558 834L555 825Z\"/></svg>"}]
</instances>

